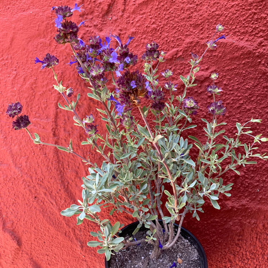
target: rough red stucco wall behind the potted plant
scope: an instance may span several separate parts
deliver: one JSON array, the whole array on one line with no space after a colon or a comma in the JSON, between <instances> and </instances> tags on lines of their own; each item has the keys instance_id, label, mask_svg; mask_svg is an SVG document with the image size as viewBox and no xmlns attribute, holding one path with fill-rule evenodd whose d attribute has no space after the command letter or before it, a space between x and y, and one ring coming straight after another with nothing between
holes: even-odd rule
<instances>
[{"instance_id":1,"label":"rough red stucco wall behind the potted plant","mask_svg":"<svg viewBox=\"0 0 268 268\"><path fill-rule=\"evenodd\" d=\"M59 46L55 35L51 7L74 6L73 1L3 1L0 5L0 266L12 267L104 267L104 256L86 246L90 222L76 226L76 219L60 211L80 199L81 176L86 167L55 148L34 145L25 131L12 130L5 111L11 102L20 101L33 123L29 129L39 133L45 142L68 145L72 138L76 151L86 154L89 148L79 145L84 133L73 126L72 114L59 111L62 102L52 88L53 76L40 70L35 57L55 54L60 64L56 71L66 86L72 86L86 99L87 89L74 67L69 67L71 52ZM236 121L262 118L256 133L268 135L267 116L267 7L263 0L236 1L160 1L160 0L92 0L78 1L84 11L74 21L87 20L81 37L112 31L125 42L135 36L130 48L141 55L147 42L154 40L167 51L164 67L179 75L189 72L190 52L200 55L215 26L225 26L227 40L205 57L198 75L198 86L192 96L198 99L206 114L206 85L212 71L220 73L227 106L229 134L235 133ZM182 84L179 82L179 89ZM79 112L89 114L96 103L80 102ZM94 112L96 114L96 112ZM101 126L100 126L101 127ZM202 131L202 129L200 129ZM267 145L261 146L262 152ZM94 154L92 159L96 158ZM185 227L203 244L209 267L266 267L267 249L267 170L268 163L259 161L247 166L241 175L229 173L233 182L232 197L220 201L222 209L204 207L200 222L187 219ZM105 218L105 215L104 215ZM118 215L116 220L132 219Z\"/></svg>"}]
</instances>

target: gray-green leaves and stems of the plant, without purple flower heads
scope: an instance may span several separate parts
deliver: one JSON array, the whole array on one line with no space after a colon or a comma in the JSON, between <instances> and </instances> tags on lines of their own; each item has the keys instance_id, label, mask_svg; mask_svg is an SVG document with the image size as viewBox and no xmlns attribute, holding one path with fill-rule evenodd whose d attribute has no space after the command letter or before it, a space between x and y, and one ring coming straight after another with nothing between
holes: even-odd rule
<instances>
[{"instance_id":1,"label":"gray-green leaves and stems of the plant, without purple flower heads","mask_svg":"<svg viewBox=\"0 0 268 268\"><path fill-rule=\"evenodd\" d=\"M212 41L208 43L208 48L215 47L216 41ZM98 107L97 110L107 133L91 133L81 144L90 146L100 154L103 159L101 166L94 163L90 155L84 158L75 153L71 140L69 146L65 147L44 143L36 133L35 138L32 138L36 144L56 146L79 156L90 165L88 174L82 178L82 200L78 200L78 204L71 205L61 214L66 217L76 215L77 224L84 220L98 224L100 231L91 232L98 241L90 241L87 245L100 246L98 252L105 253L108 260L113 251L141 241L152 243L152 257L157 257L159 242L166 249L177 239L178 236L173 234L175 221L180 221L181 226L187 213L199 220L206 201L220 209L218 200L221 194L230 196L229 191L233 185L224 182L227 171L239 174L237 168L241 165L256 163L251 161L252 157L267 159L267 156L258 153L256 147L257 143L267 141L267 138L254 136L250 130L250 123L260 123L259 119L251 119L243 125L236 123L237 133L234 137L229 137L224 135L225 130L222 129L226 123L218 122L222 112L214 113L209 116L209 121L202 119L198 122L199 129L203 128L198 137L185 134L186 130L189 133L190 129L197 127L192 124L193 111L185 109L184 102L188 91L197 85L194 81L204 54L189 61L189 75L180 76L185 86L182 95L175 96L171 89L170 96L166 98L164 108L160 111L152 109L150 105L136 105L133 110L140 112L138 119L133 116L133 110L128 110L121 116L117 111L117 104L110 99L111 96L116 96L115 88L118 86L114 78L115 69L109 70L109 82L114 85L112 87L111 83L108 86L92 80L94 77L90 71L98 62L93 62L93 66L82 66L86 72L80 75L90 84L91 93L87 96L104 107ZM75 57L82 65L79 56L75 54ZM161 52L156 61L146 59L144 63L143 77L149 82L152 93L162 91L157 73L163 57L164 53ZM56 74L54 77L57 81ZM168 81L170 82L169 78ZM88 132L86 120L82 121L75 110L80 95L77 95L76 102L69 103L64 96L65 87L62 82L57 81L57 84L54 85L55 90L67 102L64 106L58 104L58 107L73 112L74 124ZM219 93L213 95L214 102L216 95ZM152 118L150 122L147 121L148 115ZM126 118L131 124L124 127L121 120ZM250 140L242 143L241 136L249 137ZM168 211L167 215L163 213L163 206ZM104 207L110 210L110 219L101 219ZM146 237L135 242L131 238L126 241L120 237L118 232L123 224L112 224L117 213L127 213L139 221L134 233L142 225L148 228ZM158 223L158 219L163 220L163 226Z\"/></svg>"}]
</instances>

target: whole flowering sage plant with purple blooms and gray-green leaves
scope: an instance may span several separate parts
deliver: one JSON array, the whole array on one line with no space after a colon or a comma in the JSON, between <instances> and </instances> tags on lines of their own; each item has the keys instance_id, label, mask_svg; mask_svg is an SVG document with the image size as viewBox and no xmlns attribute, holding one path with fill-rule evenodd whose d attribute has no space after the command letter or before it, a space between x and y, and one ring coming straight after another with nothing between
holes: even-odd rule
<instances>
[{"instance_id":1,"label":"whole flowering sage plant with purple blooms and gray-green leaves","mask_svg":"<svg viewBox=\"0 0 268 268\"><path fill-rule=\"evenodd\" d=\"M48 53L43 60L36 58L35 63L41 63L41 69L51 69L56 81L54 88L65 102L65 105L58 104L59 108L73 113L74 125L85 132L81 144L91 145L92 150L100 153L102 164L95 163L89 155L77 154L71 140L65 147L43 142L37 133L32 136L27 128L31 124L29 117L19 116L22 112L19 102L9 105L7 114L16 117L13 128L25 129L35 144L56 146L88 165L88 174L82 178L82 199L61 212L66 217L76 215L77 224L90 220L99 225L100 231L91 232L98 241L90 241L88 246L101 247L98 252L105 253L109 260L113 251L147 241L153 245L150 257L157 258L161 250L176 242L186 214L199 220L205 201L220 209L217 202L220 195L231 195L232 184L224 184L227 171L239 174L238 166L256 163L251 161L252 157L268 158L257 153L256 147L268 139L261 134L253 135L250 130L251 123L260 123L260 119L236 123L235 137L224 135L226 123L221 119L226 107L218 99L222 93L216 84L218 73L211 74L212 83L207 86L212 102L206 108L209 119L200 122L205 125L203 138L189 135L189 129L197 127L191 122L199 109L198 102L189 97L189 92L191 95L191 88L197 85L195 79L205 53L215 50L218 41L226 38L224 35L216 38L224 27L216 26L215 34L206 43L201 56L192 53L189 74L180 76L184 88L178 89L171 79L173 70L159 71L165 53L159 50L157 43L146 45L141 55L143 68L139 70L135 67L138 56L129 49L134 42L132 37L126 44L114 35L106 37L105 41L99 36L91 36L84 42L78 32L85 22L77 25L69 20L75 11L81 12L80 7L76 4L73 9L60 6L53 7L52 11L56 14L54 39L58 44L68 44L73 52L70 65L75 64L79 76L87 82L89 100L94 99L102 105L103 108L97 110L107 133L98 131L92 114L83 115L83 119L77 114L80 95L78 93L76 100L72 100L73 89L65 88L58 80L55 67L59 60L54 55ZM159 75L166 79L164 84L159 82ZM139 115L139 121L134 114ZM153 117L149 122L148 114ZM186 130L188 135L184 135ZM241 136L248 137L249 141L242 143ZM191 154L193 146L197 148ZM138 241L120 237L123 224L101 219L103 207L110 209L111 219L118 212L132 215L139 221L134 233L144 225L148 229L146 237ZM177 232L173 227L175 221L179 223Z\"/></svg>"}]
</instances>

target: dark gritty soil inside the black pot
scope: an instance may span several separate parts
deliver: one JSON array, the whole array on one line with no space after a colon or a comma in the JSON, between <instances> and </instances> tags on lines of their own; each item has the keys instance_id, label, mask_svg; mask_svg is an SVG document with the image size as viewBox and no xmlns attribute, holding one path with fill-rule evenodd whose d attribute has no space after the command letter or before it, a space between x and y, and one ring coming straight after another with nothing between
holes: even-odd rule
<instances>
[{"instance_id":1,"label":"dark gritty soil inside the black pot","mask_svg":"<svg viewBox=\"0 0 268 268\"><path fill-rule=\"evenodd\" d=\"M138 240L142 236L144 237L144 231L138 232L133 237ZM201 266L197 249L182 236L171 248L162 250L157 260L150 260L151 252L152 245L147 242L128 247L111 256L109 268L169 268L173 262L178 268L200 268ZM177 262L178 258L183 260L181 264Z\"/></svg>"}]
</instances>

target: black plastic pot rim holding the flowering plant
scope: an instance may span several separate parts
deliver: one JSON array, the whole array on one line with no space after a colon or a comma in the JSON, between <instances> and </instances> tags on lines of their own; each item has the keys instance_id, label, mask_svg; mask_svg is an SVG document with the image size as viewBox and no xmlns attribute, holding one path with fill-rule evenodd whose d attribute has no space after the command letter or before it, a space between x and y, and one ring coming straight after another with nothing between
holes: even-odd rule
<instances>
[{"instance_id":1,"label":"black plastic pot rim holding the flowering plant","mask_svg":"<svg viewBox=\"0 0 268 268\"><path fill-rule=\"evenodd\" d=\"M159 220L159 222L161 222L161 220ZM119 234L119 236L121 237L125 237L127 235L131 235L134 230L137 228L139 222L133 222L127 226L125 226L123 229L121 229L121 233ZM174 223L174 226L176 228L178 228L178 225ZM140 228L140 230L145 230L146 228L144 226L142 226ZM197 249L199 256L200 256L200 267L201 268L208 268L208 261L207 261L207 257L206 257L206 253L204 251L204 248L202 247L201 243L197 240L197 238L188 230L186 230L184 227L182 227L181 229L181 235L186 238L191 244L193 244L195 246L195 248ZM109 262L107 261L105 258L105 268L109 268Z\"/></svg>"}]
</instances>

